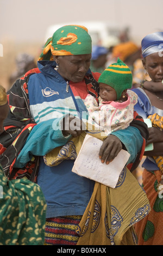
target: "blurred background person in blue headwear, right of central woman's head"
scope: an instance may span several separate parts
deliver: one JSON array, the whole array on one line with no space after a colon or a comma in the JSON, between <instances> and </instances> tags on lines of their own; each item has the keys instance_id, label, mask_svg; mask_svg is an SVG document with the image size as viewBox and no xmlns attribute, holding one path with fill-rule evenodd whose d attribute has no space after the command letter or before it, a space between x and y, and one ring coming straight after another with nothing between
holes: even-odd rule
<instances>
[{"instance_id":1,"label":"blurred background person in blue headwear, right of central woman's head","mask_svg":"<svg viewBox=\"0 0 163 256\"><path fill-rule=\"evenodd\" d=\"M91 71L102 73L105 69L107 56L108 49L103 46L94 45L92 47Z\"/></svg>"}]
</instances>

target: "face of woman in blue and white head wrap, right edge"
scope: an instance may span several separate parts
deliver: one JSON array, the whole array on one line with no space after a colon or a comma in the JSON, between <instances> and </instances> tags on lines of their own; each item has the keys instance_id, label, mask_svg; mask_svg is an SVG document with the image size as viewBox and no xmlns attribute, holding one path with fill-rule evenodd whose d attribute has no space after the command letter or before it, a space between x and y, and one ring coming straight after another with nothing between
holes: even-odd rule
<instances>
[{"instance_id":1,"label":"face of woman in blue and white head wrap, right edge","mask_svg":"<svg viewBox=\"0 0 163 256\"><path fill-rule=\"evenodd\" d=\"M162 54L161 54L162 55ZM148 55L142 60L153 82L161 82L163 79L163 56L158 52Z\"/></svg>"}]
</instances>

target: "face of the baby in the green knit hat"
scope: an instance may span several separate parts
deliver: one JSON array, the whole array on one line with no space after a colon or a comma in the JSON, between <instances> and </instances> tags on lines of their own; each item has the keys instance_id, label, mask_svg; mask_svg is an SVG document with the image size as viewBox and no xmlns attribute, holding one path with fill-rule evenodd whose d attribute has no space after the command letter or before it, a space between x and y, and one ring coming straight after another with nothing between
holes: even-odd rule
<instances>
[{"instance_id":1,"label":"face of the baby in the green knit hat","mask_svg":"<svg viewBox=\"0 0 163 256\"><path fill-rule=\"evenodd\" d=\"M116 101L117 99L115 89L105 83L99 83L99 96L103 101Z\"/></svg>"}]
</instances>

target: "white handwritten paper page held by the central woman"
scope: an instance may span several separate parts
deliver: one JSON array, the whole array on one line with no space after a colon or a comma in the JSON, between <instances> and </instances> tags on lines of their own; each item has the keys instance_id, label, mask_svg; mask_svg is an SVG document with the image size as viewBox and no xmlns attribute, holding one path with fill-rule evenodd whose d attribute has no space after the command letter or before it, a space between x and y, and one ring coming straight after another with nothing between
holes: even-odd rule
<instances>
[{"instance_id":1,"label":"white handwritten paper page held by the central woman","mask_svg":"<svg viewBox=\"0 0 163 256\"><path fill-rule=\"evenodd\" d=\"M130 154L122 149L111 163L102 163L99 159L102 144L100 139L86 135L72 172L114 188Z\"/></svg>"}]
</instances>

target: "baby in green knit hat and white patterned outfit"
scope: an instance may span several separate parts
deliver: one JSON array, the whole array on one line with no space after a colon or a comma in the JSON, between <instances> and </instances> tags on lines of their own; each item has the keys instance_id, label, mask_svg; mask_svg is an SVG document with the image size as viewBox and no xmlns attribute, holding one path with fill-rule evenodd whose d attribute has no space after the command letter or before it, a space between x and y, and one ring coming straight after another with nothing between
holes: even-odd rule
<instances>
[{"instance_id":1,"label":"baby in green knit hat and white patterned outfit","mask_svg":"<svg viewBox=\"0 0 163 256\"><path fill-rule=\"evenodd\" d=\"M89 112L88 123L107 135L113 131L126 129L134 117L137 95L128 90L132 87L133 76L129 67L117 59L99 77L98 103L88 94L84 100Z\"/></svg>"}]
</instances>

